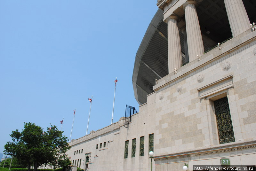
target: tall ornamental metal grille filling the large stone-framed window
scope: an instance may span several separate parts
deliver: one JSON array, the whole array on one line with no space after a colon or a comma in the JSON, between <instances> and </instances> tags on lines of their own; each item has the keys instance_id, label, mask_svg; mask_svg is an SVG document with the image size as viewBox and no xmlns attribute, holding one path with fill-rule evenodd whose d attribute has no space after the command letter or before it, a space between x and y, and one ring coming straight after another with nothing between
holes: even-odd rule
<instances>
[{"instance_id":1,"label":"tall ornamental metal grille filling the large stone-framed window","mask_svg":"<svg viewBox=\"0 0 256 171\"><path fill-rule=\"evenodd\" d=\"M220 144L235 142L228 97L214 101Z\"/></svg>"}]
</instances>

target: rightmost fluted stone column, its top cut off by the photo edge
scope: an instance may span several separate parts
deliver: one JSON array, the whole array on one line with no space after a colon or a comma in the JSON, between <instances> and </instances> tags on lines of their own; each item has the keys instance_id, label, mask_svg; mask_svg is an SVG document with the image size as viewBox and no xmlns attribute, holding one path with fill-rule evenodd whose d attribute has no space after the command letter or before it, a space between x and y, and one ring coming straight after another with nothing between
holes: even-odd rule
<instances>
[{"instance_id":1,"label":"rightmost fluted stone column, its top cut off by the photo edge","mask_svg":"<svg viewBox=\"0 0 256 171\"><path fill-rule=\"evenodd\" d=\"M250 29L250 21L242 0L224 0L233 37Z\"/></svg>"}]
</instances>

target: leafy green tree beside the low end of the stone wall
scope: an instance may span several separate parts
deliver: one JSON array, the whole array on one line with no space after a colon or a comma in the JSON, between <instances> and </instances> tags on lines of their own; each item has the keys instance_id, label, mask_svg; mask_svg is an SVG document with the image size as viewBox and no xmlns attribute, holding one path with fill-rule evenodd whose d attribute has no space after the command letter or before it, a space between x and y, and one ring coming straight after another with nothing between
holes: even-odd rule
<instances>
[{"instance_id":1,"label":"leafy green tree beside the low end of the stone wall","mask_svg":"<svg viewBox=\"0 0 256 171\"><path fill-rule=\"evenodd\" d=\"M34 166L36 171L37 167L56 161L59 153L70 149L67 137L62 133L56 126L51 125L43 132L43 129L34 123L24 123L21 132L18 129L12 131L12 142L4 145L4 153L27 163L28 171L31 166Z\"/></svg>"}]
</instances>

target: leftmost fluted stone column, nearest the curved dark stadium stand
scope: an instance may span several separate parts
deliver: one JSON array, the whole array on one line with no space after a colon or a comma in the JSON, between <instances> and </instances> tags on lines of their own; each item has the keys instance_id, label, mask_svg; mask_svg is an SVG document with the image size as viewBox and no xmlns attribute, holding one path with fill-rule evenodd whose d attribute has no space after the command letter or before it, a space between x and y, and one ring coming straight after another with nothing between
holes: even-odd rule
<instances>
[{"instance_id":1,"label":"leftmost fluted stone column, nearest the curved dark stadium stand","mask_svg":"<svg viewBox=\"0 0 256 171\"><path fill-rule=\"evenodd\" d=\"M166 19L168 25L168 70L179 69L181 62L180 34L178 29L178 17L171 15Z\"/></svg>"}]
</instances>

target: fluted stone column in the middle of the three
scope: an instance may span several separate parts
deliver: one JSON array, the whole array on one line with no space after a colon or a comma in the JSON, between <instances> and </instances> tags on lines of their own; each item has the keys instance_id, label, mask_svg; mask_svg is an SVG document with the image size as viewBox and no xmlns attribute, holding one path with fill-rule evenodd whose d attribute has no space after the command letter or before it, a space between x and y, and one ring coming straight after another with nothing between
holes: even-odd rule
<instances>
[{"instance_id":1,"label":"fluted stone column in the middle of the three","mask_svg":"<svg viewBox=\"0 0 256 171\"><path fill-rule=\"evenodd\" d=\"M185 9L186 18L188 57L189 62L192 62L197 58L197 55L199 57L203 55L204 45L196 13L196 2L187 1L183 4L183 8Z\"/></svg>"}]
</instances>

